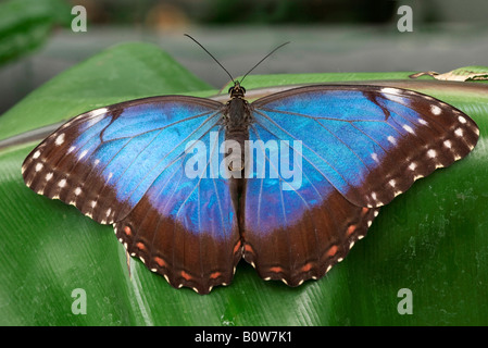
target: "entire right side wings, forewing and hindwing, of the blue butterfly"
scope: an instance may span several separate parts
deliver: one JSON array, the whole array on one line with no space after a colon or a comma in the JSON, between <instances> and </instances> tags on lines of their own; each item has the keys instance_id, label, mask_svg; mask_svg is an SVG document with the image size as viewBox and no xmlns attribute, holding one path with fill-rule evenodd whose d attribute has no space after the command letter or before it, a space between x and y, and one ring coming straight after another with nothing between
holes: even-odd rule
<instances>
[{"instance_id":1,"label":"entire right side wings, forewing and hindwing, of the blue butterfly","mask_svg":"<svg viewBox=\"0 0 488 348\"><path fill-rule=\"evenodd\" d=\"M397 88L310 86L251 109L243 257L263 278L292 286L322 277L380 206L465 157L479 135L460 110Z\"/></svg>"}]
</instances>

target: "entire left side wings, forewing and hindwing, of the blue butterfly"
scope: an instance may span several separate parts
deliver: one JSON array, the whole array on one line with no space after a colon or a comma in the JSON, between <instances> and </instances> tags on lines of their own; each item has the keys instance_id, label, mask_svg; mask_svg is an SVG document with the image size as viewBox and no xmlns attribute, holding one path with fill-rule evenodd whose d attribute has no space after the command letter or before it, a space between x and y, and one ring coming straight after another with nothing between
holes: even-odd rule
<instances>
[{"instance_id":1,"label":"entire left side wings, forewing and hindwing, of the blue butterfly","mask_svg":"<svg viewBox=\"0 0 488 348\"><path fill-rule=\"evenodd\" d=\"M166 96L84 113L30 152L24 181L113 224L127 251L173 286L205 294L232 281L241 257L232 182L185 172L190 141L224 139L222 108Z\"/></svg>"}]
</instances>

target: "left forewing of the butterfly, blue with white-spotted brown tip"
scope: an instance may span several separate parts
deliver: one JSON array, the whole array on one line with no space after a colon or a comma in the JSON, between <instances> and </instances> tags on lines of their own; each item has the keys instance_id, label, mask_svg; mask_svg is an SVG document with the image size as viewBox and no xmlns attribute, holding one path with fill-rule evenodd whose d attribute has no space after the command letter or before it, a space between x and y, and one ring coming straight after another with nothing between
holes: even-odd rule
<instances>
[{"instance_id":1,"label":"left forewing of the butterfly, blue with white-spotted brown tip","mask_svg":"<svg viewBox=\"0 0 488 348\"><path fill-rule=\"evenodd\" d=\"M210 128L210 116L215 117L221 104L195 100L200 103L153 97L80 114L30 152L23 163L24 181L38 194L112 223L128 213L158 171L178 156L185 136L198 138ZM183 130L183 120L193 132ZM152 154L154 161L146 161Z\"/></svg>"}]
</instances>

